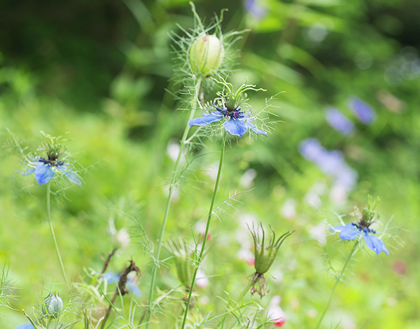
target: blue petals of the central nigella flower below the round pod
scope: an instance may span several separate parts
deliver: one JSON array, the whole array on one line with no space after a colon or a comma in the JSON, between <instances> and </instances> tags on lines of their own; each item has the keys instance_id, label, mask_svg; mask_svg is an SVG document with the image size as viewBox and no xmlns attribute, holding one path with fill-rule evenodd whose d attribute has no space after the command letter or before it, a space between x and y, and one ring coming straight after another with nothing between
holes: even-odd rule
<instances>
[{"instance_id":1,"label":"blue petals of the central nigella flower below the round pod","mask_svg":"<svg viewBox=\"0 0 420 329\"><path fill-rule=\"evenodd\" d=\"M267 136L267 132L256 128L255 125L251 123L251 118L246 115L244 111L241 111L240 108L228 111L228 109L215 106L215 110L216 111L204 112L202 117L188 121L188 125L190 125L190 127L202 127L228 118L223 124L223 127L232 135L242 137L248 128L250 128L255 134L264 134Z\"/></svg>"}]
</instances>

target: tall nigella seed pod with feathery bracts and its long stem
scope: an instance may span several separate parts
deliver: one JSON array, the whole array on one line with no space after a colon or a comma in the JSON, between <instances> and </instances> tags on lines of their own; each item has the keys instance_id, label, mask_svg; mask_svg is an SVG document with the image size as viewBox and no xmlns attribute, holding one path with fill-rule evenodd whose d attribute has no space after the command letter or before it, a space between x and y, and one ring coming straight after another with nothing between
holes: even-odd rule
<instances>
[{"instance_id":1,"label":"tall nigella seed pod with feathery bracts and its long stem","mask_svg":"<svg viewBox=\"0 0 420 329\"><path fill-rule=\"evenodd\" d=\"M179 88L176 92L176 98L183 99L186 102L189 112L188 120L193 120L195 111L204 106L206 93L214 88L214 80L210 76L228 76L232 71L232 65L237 63L237 50L233 47L235 42L241 38L244 31L231 31L223 33L221 22L223 21L223 12L220 17L214 16L210 24L206 27L200 16L195 11L193 2L190 2L194 16L194 28L185 29L178 25L183 32L179 35L172 32L169 36L174 41L174 76L172 77L173 86ZM188 99L184 99L188 95ZM169 193L167 205L165 208L158 244L153 256L154 265L151 275L150 293L148 297L148 308L146 318L146 329L152 323L151 318L153 310L153 295L155 294L155 283L160 267L160 251L162 241L165 237L165 228L171 207L171 198L174 190L179 186L179 167L181 158L186 154L186 150L193 145L193 136L189 137L190 125L186 124L182 139L179 141L179 152L175 161L172 178L169 183Z\"/></svg>"}]
</instances>

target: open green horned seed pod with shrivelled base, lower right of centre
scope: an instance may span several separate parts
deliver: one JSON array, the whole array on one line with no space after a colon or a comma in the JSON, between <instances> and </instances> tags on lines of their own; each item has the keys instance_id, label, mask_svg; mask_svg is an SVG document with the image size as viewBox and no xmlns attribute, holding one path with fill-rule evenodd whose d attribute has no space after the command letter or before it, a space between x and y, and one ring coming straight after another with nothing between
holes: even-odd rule
<instances>
[{"instance_id":1,"label":"open green horned seed pod with shrivelled base, lower right of centre","mask_svg":"<svg viewBox=\"0 0 420 329\"><path fill-rule=\"evenodd\" d=\"M271 225L269 225L272 234L269 237L268 246L265 246L265 231L262 228L262 223L259 226L262 235L260 238L260 230L257 228L255 230L249 229L251 231L251 235L254 241L254 248L255 248L255 273L252 275L251 278L251 295L254 293L258 293L262 298L269 292L267 278L265 277L265 272L269 270L272 266L274 260L276 259L276 255L279 252L279 248L283 241L293 234L293 232L286 232L279 239L276 239L276 232L274 232Z\"/></svg>"}]
</instances>

